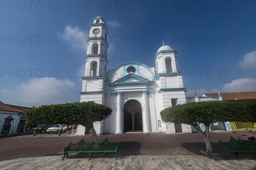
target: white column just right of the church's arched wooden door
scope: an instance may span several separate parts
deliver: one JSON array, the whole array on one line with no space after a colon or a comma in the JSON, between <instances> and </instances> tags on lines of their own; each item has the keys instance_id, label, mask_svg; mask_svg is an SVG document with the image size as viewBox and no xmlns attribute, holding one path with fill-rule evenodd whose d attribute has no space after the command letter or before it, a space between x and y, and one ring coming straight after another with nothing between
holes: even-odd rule
<instances>
[{"instance_id":1,"label":"white column just right of the church's arched wooden door","mask_svg":"<svg viewBox=\"0 0 256 170\"><path fill-rule=\"evenodd\" d=\"M143 133L150 133L149 119L148 119L148 91L142 91L143 98L143 111L142 111L142 122L143 122Z\"/></svg>"}]
</instances>

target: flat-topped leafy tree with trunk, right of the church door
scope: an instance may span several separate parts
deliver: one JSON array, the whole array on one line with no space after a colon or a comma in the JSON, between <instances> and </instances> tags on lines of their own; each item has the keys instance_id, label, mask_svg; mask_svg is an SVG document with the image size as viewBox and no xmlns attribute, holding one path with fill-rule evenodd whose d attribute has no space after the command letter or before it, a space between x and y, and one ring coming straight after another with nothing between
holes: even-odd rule
<instances>
[{"instance_id":1,"label":"flat-topped leafy tree with trunk, right of the church door","mask_svg":"<svg viewBox=\"0 0 256 170\"><path fill-rule=\"evenodd\" d=\"M256 100L193 102L166 108L160 112L163 122L192 125L204 136L206 151L212 152L209 126L214 122L256 122ZM205 125L205 131L198 123Z\"/></svg>"}]
</instances>

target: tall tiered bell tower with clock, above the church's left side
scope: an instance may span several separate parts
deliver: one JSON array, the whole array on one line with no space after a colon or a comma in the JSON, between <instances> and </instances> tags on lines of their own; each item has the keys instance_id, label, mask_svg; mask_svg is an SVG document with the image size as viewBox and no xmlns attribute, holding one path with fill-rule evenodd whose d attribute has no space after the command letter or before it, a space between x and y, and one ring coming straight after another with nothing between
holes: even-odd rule
<instances>
[{"instance_id":1,"label":"tall tiered bell tower with clock, above the church's left side","mask_svg":"<svg viewBox=\"0 0 256 170\"><path fill-rule=\"evenodd\" d=\"M85 76L105 76L108 64L108 28L101 15L94 18L89 28L90 35L87 39Z\"/></svg>"}]
</instances>

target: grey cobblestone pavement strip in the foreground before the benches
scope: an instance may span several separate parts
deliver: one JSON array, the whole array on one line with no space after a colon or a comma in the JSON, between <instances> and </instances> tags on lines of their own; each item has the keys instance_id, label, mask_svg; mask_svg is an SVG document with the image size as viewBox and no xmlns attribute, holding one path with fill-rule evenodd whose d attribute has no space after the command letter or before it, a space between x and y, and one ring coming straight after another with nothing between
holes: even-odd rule
<instances>
[{"instance_id":1,"label":"grey cobblestone pavement strip in the foreground before the benches","mask_svg":"<svg viewBox=\"0 0 256 170\"><path fill-rule=\"evenodd\" d=\"M61 161L62 156L44 156L13 159L0 162L1 170L255 170L252 158L207 156L119 156L98 155L88 161L86 155L70 155Z\"/></svg>"}]
</instances>

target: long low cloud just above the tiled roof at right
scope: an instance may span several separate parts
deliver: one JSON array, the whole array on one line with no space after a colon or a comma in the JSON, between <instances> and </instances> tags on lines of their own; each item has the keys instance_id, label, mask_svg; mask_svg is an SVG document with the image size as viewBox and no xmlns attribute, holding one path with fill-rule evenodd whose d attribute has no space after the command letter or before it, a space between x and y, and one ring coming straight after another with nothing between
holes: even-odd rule
<instances>
[{"instance_id":1,"label":"long low cloud just above the tiled roof at right","mask_svg":"<svg viewBox=\"0 0 256 170\"><path fill-rule=\"evenodd\" d=\"M202 96L204 93L229 93L229 92L248 92L248 91L256 91L256 79L255 78L240 78L235 79L230 83L224 84L220 88L213 89L188 89L186 92L186 96Z\"/></svg>"}]
</instances>

